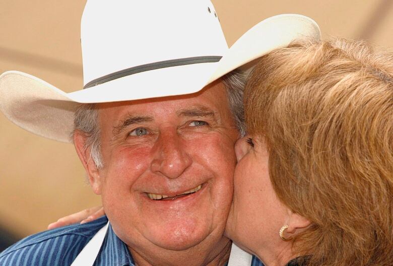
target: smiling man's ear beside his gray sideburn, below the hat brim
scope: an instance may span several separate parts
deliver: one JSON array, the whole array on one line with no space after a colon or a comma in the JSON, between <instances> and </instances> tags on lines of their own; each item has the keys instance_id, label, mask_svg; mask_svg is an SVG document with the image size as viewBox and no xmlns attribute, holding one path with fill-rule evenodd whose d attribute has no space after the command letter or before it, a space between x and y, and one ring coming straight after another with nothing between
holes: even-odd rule
<instances>
[{"instance_id":1,"label":"smiling man's ear beside his gray sideburn, below the hat brim","mask_svg":"<svg viewBox=\"0 0 393 266\"><path fill-rule=\"evenodd\" d=\"M89 149L85 149L87 136L80 130L74 132L74 146L78 157L81 160L83 167L85 167L87 176L94 193L101 194L101 178L100 172L97 168L93 158L90 156Z\"/></svg>"}]
</instances>

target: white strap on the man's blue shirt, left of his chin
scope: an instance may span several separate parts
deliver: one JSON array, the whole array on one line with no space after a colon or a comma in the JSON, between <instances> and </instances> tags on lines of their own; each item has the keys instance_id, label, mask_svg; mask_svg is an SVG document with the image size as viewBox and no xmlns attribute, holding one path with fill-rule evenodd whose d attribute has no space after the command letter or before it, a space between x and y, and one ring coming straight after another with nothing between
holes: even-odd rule
<instances>
[{"instance_id":1,"label":"white strap on the man's blue shirt, left of his chin","mask_svg":"<svg viewBox=\"0 0 393 266\"><path fill-rule=\"evenodd\" d=\"M93 236L89 243L87 243L87 245L75 258L71 266L93 266L94 261L97 258L98 252L100 252L102 243L104 242L108 227L109 222Z\"/></svg>"}]
</instances>

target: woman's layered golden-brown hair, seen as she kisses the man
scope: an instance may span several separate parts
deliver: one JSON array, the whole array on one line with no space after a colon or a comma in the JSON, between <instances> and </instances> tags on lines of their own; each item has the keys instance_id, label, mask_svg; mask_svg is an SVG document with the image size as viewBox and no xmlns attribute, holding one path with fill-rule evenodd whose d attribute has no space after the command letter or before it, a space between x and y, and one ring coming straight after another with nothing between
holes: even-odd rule
<instances>
[{"instance_id":1,"label":"woman's layered golden-brown hair, seen as she kisses the man","mask_svg":"<svg viewBox=\"0 0 393 266\"><path fill-rule=\"evenodd\" d=\"M312 222L294 255L393 265L393 54L344 39L294 42L261 58L244 99L278 197Z\"/></svg>"}]
</instances>

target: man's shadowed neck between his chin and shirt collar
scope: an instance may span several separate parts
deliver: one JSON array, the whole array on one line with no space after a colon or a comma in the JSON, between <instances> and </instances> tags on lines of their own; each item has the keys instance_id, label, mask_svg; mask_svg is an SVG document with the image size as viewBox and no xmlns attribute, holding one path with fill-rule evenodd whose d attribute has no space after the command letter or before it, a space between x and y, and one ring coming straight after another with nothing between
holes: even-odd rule
<instances>
[{"instance_id":1,"label":"man's shadowed neck between his chin and shirt collar","mask_svg":"<svg viewBox=\"0 0 393 266\"><path fill-rule=\"evenodd\" d=\"M184 251L167 250L155 254L128 249L136 266L224 266L229 260L231 244L228 238L222 237L210 250L192 247Z\"/></svg>"}]
</instances>

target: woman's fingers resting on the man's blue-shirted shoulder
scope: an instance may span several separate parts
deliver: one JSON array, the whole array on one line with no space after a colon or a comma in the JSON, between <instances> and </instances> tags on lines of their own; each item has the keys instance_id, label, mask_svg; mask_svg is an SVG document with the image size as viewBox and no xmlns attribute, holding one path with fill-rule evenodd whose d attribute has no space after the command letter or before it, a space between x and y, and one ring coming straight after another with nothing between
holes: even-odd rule
<instances>
[{"instance_id":1,"label":"woman's fingers resting on the man's blue-shirted shoulder","mask_svg":"<svg viewBox=\"0 0 393 266\"><path fill-rule=\"evenodd\" d=\"M80 211L78 213L60 218L57 220L57 222L54 222L54 223L51 223L50 225L48 225L48 229L54 229L54 228L58 228L61 226L71 225L71 224L75 224L75 223L79 223L79 222L81 224L88 223L93 220L96 220L97 218L103 216L104 214L105 214L105 212L104 212L104 208L102 206L93 207L93 208L86 209L86 210Z\"/></svg>"}]
</instances>

